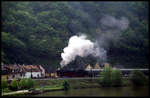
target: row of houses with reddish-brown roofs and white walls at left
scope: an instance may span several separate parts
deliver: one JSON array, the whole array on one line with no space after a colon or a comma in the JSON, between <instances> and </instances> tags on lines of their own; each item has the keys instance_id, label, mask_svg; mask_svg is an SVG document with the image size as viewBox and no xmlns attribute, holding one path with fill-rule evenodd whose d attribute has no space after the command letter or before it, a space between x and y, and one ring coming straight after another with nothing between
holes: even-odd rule
<instances>
[{"instance_id":1,"label":"row of houses with reddish-brown roofs and white walls at left","mask_svg":"<svg viewBox=\"0 0 150 98\"><path fill-rule=\"evenodd\" d=\"M42 70L41 70L42 68ZM44 77L44 68L38 65L2 65L2 79L12 80L21 78Z\"/></svg>"}]
</instances>

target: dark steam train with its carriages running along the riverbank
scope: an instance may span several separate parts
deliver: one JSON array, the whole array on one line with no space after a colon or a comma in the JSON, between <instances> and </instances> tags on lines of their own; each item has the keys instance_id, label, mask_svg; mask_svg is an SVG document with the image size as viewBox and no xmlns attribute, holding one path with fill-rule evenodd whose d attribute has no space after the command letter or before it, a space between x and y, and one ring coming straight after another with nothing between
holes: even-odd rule
<instances>
[{"instance_id":1,"label":"dark steam train with its carriages running along the riverbank","mask_svg":"<svg viewBox=\"0 0 150 98\"><path fill-rule=\"evenodd\" d=\"M57 70L59 77L100 77L100 72L103 69L89 69L89 70ZM120 69L123 76L128 77L133 70L139 70L145 75L149 75L149 69Z\"/></svg>"}]
</instances>

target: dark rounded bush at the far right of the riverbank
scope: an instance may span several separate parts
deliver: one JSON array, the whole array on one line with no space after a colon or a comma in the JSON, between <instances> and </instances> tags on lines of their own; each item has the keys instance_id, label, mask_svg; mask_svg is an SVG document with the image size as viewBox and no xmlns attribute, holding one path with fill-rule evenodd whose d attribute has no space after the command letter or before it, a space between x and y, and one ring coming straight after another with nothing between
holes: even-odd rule
<instances>
[{"instance_id":1,"label":"dark rounded bush at the far right of the riverbank","mask_svg":"<svg viewBox=\"0 0 150 98\"><path fill-rule=\"evenodd\" d=\"M130 74L130 81L133 85L142 86L147 81L147 77L144 75L143 72L139 70L134 70Z\"/></svg>"}]
</instances>

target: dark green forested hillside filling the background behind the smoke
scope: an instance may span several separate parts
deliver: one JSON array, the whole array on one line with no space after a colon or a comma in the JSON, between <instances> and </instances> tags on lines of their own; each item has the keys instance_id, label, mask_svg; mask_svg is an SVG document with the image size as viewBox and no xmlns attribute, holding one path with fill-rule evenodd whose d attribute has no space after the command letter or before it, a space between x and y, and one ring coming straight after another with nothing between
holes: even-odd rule
<instances>
[{"instance_id":1,"label":"dark green forested hillside filling the background behind the smoke","mask_svg":"<svg viewBox=\"0 0 150 98\"><path fill-rule=\"evenodd\" d=\"M97 36L104 15L126 17L121 40L107 47L108 62L148 67L148 2L2 2L2 62L60 66L72 35ZM90 59L89 59L90 60Z\"/></svg>"}]
</instances>

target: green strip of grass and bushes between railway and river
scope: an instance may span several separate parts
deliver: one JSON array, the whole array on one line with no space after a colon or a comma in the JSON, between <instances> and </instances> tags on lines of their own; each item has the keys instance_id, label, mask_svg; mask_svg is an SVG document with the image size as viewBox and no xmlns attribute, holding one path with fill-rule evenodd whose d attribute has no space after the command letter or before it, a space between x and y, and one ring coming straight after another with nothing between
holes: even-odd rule
<instances>
[{"instance_id":1,"label":"green strip of grass and bushes between railway and river","mask_svg":"<svg viewBox=\"0 0 150 98\"><path fill-rule=\"evenodd\" d=\"M100 73L99 79L77 79L77 80L35 80L31 78L25 80L22 78L18 83L15 79L11 83L11 89L8 88L6 81L2 80L2 91L4 93L13 90L36 90L36 91L53 91L68 90L79 88L95 88L95 87L122 87L122 86L147 86L148 77L140 71L131 72L129 78L124 78L119 69L113 69L106 66Z\"/></svg>"}]
</instances>

